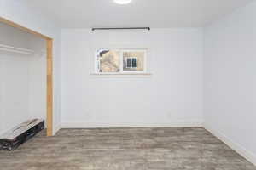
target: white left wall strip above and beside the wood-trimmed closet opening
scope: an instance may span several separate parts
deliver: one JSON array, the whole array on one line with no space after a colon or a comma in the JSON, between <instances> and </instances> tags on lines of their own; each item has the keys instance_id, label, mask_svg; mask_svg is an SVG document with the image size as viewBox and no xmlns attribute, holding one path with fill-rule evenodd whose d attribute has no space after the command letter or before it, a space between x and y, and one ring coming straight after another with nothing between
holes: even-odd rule
<instances>
[{"instance_id":1,"label":"white left wall strip above and beside the wood-trimmed closet opening","mask_svg":"<svg viewBox=\"0 0 256 170\"><path fill-rule=\"evenodd\" d=\"M54 133L61 127L61 28L29 1L0 0L0 17L54 38Z\"/></svg>"}]
</instances>

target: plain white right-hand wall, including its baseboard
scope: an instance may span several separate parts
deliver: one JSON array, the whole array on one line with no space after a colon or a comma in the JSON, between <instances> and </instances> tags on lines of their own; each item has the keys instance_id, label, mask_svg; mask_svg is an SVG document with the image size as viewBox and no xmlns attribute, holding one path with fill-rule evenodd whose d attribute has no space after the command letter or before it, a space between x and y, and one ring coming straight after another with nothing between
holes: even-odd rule
<instances>
[{"instance_id":1,"label":"plain white right-hand wall, including its baseboard","mask_svg":"<svg viewBox=\"0 0 256 170\"><path fill-rule=\"evenodd\" d=\"M206 127L256 164L256 2L205 28Z\"/></svg>"}]
</instances>

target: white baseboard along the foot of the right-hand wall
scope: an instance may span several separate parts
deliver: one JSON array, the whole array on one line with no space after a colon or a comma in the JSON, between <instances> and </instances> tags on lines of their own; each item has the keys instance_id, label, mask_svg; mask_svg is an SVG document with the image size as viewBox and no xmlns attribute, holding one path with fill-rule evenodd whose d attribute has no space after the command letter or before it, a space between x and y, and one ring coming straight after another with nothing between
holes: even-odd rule
<instances>
[{"instance_id":1,"label":"white baseboard along the foot of the right-hand wall","mask_svg":"<svg viewBox=\"0 0 256 170\"><path fill-rule=\"evenodd\" d=\"M212 133L214 136L216 136L218 139L223 141L225 144L230 146L230 148L232 150L235 150L238 154L240 154L241 156L246 158L247 161L250 161L251 163L253 163L253 165L256 166L256 156L251 151L246 150L244 147L241 146L241 144L237 144L236 142L229 139L226 135L224 135L224 133L220 133L220 132L214 130L211 126L209 126L207 124L203 124L203 127L207 131Z\"/></svg>"}]
</instances>

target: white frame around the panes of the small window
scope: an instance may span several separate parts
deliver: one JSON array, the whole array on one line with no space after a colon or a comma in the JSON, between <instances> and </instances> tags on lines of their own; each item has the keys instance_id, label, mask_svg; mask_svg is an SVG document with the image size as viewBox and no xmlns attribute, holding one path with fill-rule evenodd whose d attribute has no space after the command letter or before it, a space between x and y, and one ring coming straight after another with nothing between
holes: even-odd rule
<instances>
[{"instance_id":1,"label":"white frame around the panes of the small window","mask_svg":"<svg viewBox=\"0 0 256 170\"><path fill-rule=\"evenodd\" d=\"M120 70L119 72L100 72L98 69L99 61L97 57L97 51L98 50L113 50L113 51L120 51L119 55L119 66ZM143 71L124 71L124 52L143 52L144 53L144 62L143 62ZM147 48L96 48L94 51L95 59L94 59L94 75L149 75L148 73L148 49ZM137 57L131 57L136 58ZM133 67L135 68L135 67ZM136 67L137 68L137 67Z\"/></svg>"}]
</instances>

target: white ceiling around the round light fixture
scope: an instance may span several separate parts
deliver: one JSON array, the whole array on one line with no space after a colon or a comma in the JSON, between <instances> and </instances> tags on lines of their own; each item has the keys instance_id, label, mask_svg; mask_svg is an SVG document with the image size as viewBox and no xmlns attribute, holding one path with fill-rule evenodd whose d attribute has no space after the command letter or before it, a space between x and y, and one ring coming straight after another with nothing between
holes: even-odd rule
<instances>
[{"instance_id":1,"label":"white ceiling around the round light fixture","mask_svg":"<svg viewBox=\"0 0 256 170\"><path fill-rule=\"evenodd\" d=\"M201 27L254 0L26 0L62 28L151 26Z\"/></svg>"}]
</instances>

